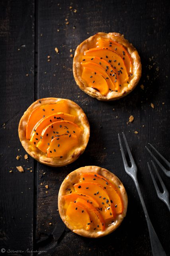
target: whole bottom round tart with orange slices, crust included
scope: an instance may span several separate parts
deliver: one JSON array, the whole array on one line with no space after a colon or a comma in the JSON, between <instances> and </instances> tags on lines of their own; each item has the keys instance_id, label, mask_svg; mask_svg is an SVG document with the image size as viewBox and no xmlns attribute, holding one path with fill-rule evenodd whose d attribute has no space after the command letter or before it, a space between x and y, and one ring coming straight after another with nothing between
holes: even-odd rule
<instances>
[{"instance_id":1,"label":"whole bottom round tart with orange slices, crust included","mask_svg":"<svg viewBox=\"0 0 170 256\"><path fill-rule=\"evenodd\" d=\"M113 173L98 166L85 166L64 179L58 208L70 230L80 236L98 238L121 224L127 212L127 194Z\"/></svg>"}]
</instances>

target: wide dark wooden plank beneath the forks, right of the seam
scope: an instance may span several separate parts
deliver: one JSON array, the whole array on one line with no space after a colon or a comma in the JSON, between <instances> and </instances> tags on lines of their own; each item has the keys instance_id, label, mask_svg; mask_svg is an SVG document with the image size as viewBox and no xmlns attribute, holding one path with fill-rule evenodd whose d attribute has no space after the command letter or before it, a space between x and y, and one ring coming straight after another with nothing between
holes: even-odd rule
<instances>
[{"instance_id":1,"label":"wide dark wooden plank beneath the forks, right of the seam","mask_svg":"<svg viewBox=\"0 0 170 256\"><path fill-rule=\"evenodd\" d=\"M70 10L69 6L73 8ZM74 9L77 12L73 12ZM71 4L46 0L39 3L38 98L52 96L74 100L86 112L91 128L88 147L76 162L62 168L38 164L37 248L46 250L44 255L151 255L139 197L123 168L117 139L119 132L125 132L127 136L139 167L139 182L150 218L162 246L170 255L168 210L156 197L147 169L150 158L144 149L147 142L151 142L169 158L169 11L168 1L73 0ZM72 75L70 49L74 52L80 42L100 31L124 34L139 50L143 64L143 76L137 88L115 102L99 102L90 98L76 86ZM58 54L55 47L59 49ZM50 62L48 55L51 56ZM144 90L140 88L141 84ZM135 119L129 124L130 115ZM139 133L135 134L135 131ZM129 197L127 217L113 234L99 240L83 238L66 229L56 243L51 233L59 217L59 187L69 172L85 165L108 168L122 180ZM170 189L167 178L160 173ZM48 194L45 185L49 185ZM43 240L46 242L41 242Z\"/></svg>"}]
</instances>

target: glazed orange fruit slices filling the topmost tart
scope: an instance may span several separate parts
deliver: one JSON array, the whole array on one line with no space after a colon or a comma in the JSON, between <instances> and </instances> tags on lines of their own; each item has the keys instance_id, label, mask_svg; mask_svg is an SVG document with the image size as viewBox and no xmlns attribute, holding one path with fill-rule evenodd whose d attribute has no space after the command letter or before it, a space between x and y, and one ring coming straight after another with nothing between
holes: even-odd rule
<instances>
[{"instance_id":1,"label":"glazed orange fruit slices filling the topmost tart","mask_svg":"<svg viewBox=\"0 0 170 256\"><path fill-rule=\"evenodd\" d=\"M96 47L85 50L80 63L86 86L104 96L121 92L133 75L133 61L126 48L106 38L97 38Z\"/></svg>"}]
</instances>

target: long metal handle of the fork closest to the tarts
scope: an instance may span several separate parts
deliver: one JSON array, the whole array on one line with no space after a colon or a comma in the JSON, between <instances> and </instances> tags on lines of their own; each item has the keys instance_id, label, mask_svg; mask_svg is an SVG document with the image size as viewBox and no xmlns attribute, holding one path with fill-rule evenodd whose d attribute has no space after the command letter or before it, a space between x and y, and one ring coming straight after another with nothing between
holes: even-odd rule
<instances>
[{"instance_id":1,"label":"long metal handle of the fork closest to the tarts","mask_svg":"<svg viewBox=\"0 0 170 256\"><path fill-rule=\"evenodd\" d=\"M139 198L141 200L143 211L145 213L145 217L146 217L146 220L147 220L150 242L151 242L151 247L152 247L152 254L153 254L153 256L166 256L166 253L165 253L165 251L164 251L164 249L163 249L163 247L162 247L162 245L159 241L159 238L156 235L156 232L155 232L155 230L152 226L152 223L150 221L149 214L147 212L147 208L145 206L145 202L143 200L143 196L142 196L142 193L141 193L141 190L140 190L140 187L139 187L139 183L136 179L134 180L134 182L135 182L135 186L137 188L137 192L139 194Z\"/></svg>"}]
</instances>

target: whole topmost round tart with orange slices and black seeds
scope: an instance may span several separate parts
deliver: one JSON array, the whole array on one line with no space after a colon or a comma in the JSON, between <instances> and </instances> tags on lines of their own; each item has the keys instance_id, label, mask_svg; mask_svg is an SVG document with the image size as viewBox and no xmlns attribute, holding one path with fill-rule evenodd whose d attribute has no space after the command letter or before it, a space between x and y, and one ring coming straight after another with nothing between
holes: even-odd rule
<instances>
[{"instance_id":1,"label":"whole topmost round tart with orange slices and black seeds","mask_svg":"<svg viewBox=\"0 0 170 256\"><path fill-rule=\"evenodd\" d=\"M119 33L97 33L77 46L73 74L77 85L98 100L117 100L141 78L137 50Z\"/></svg>"}]
</instances>

